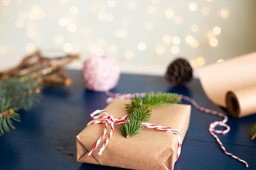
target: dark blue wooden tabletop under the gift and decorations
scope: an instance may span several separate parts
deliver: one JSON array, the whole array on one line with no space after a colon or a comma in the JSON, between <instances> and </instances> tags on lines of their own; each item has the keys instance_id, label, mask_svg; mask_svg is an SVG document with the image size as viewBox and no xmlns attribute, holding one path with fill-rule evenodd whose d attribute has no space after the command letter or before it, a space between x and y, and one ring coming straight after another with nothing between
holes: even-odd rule
<instances>
[{"instance_id":1,"label":"dark blue wooden tabletop under the gift and decorations","mask_svg":"<svg viewBox=\"0 0 256 170\"><path fill-rule=\"evenodd\" d=\"M31 110L20 111L22 122L16 130L0 137L1 170L121 170L76 161L75 136L91 120L90 113L106 107L104 93L88 91L81 82L80 71L68 71L74 80L70 87L47 87L43 99ZM199 105L227 114L209 101L200 81L193 79L186 86L173 87L164 77L122 74L113 93L147 91L180 93L195 99ZM183 101L183 104L188 104ZM192 107L190 126L182 144L175 170L253 170L256 169L256 140L249 139L249 130L256 115L234 119L229 117L231 131L218 135L228 152L249 163L225 155L208 127L222 118Z\"/></svg>"}]
</instances>

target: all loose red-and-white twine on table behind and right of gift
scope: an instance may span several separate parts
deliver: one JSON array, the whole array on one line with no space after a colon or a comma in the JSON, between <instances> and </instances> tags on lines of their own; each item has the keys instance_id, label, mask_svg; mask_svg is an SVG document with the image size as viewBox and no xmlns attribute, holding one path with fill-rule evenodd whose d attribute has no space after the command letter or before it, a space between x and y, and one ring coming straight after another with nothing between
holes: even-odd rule
<instances>
[{"instance_id":1,"label":"all loose red-and-white twine on table behind and right of gift","mask_svg":"<svg viewBox=\"0 0 256 170\"><path fill-rule=\"evenodd\" d=\"M144 96L146 95L146 93L133 93L133 94L127 93L127 94L120 94L120 93L111 93L110 91L106 91L105 93L106 93L106 95L110 96L110 97L108 97L108 99L106 100L106 103L107 103L107 104L110 103L114 98L130 99L131 97L134 97L135 95L138 95L138 96L140 96L140 97L144 97ZM209 125L209 132L210 132L210 134L216 139L216 141L217 141L217 143L219 144L220 148L222 149L222 151L223 151L226 155L228 155L228 156L230 156L230 157L232 157L232 158L234 158L234 159L236 159L236 160L238 160L238 161L244 163L246 167L249 167L249 165L248 165L248 163L247 163L246 161L244 161L243 159L240 159L240 158L236 157L235 155L233 155L233 154L227 152L227 150L226 150L225 147L223 146L223 144L222 144L222 142L220 141L220 139L218 138L218 136L215 135L215 133L225 134L225 133L227 133L227 132L230 131L229 125L226 124L227 121L228 121L227 115L225 115L225 114L223 114L223 113L220 113L220 112L218 112L218 111L215 111L215 110L211 110L211 109L208 109L208 108L204 108L204 107L202 107L202 106L199 106L199 105L195 102L195 100L191 99L191 98L188 97L188 96L180 95L180 98L186 100L186 101L189 102L189 103L191 103L196 109L198 109L198 110L200 110L200 111L203 111L203 112L205 112L205 113L210 113L210 114L212 114L212 115L217 115L217 116L219 116L219 117L222 117L222 118L223 118L222 121L214 121L213 123L211 123L211 124ZM226 130L216 130L215 128L216 128L217 126L225 127Z\"/></svg>"}]
</instances>

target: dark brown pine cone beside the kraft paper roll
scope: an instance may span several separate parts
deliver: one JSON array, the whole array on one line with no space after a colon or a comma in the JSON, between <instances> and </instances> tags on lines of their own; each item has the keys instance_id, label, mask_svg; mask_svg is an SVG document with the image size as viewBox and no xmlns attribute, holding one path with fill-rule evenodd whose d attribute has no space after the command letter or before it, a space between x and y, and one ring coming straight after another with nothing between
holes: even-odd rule
<instances>
[{"instance_id":1,"label":"dark brown pine cone beside the kraft paper roll","mask_svg":"<svg viewBox=\"0 0 256 170\"><path fill-rule=\"evenodd\" d=\"M185 59L178 58L167 68L165 77L175 86L185 84L192 78L193 69Z\"/></svg>"}]
</instances>

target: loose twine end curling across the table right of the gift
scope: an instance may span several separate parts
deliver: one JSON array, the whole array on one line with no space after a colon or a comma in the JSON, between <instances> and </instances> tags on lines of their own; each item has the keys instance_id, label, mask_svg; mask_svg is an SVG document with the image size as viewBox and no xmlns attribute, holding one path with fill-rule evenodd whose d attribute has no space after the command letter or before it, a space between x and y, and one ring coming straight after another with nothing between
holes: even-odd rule
<instances>
[{"instance_id":1,"label":"loose twine end curling across the table right of the gift","mask_svg":"<svg viewBox=\"0 0 256 170\"><path fill-rule=\"evenodd\" d=\"M209 132L210 134L216 139L217 143L219 144L220 148L223 150L223 152L227 155L229 155L230 157L242 162L245 164L246 167L249 167L248 163L238 157L236 157L235 155L227 152L227 150L225 149L225 147L222 145L222 142L220 141L220 139L218 138L217 135L215 135L214 133L220 133L220 134L225 134L227 132L229 132L230 127L226 124L228 121L228 117L226 115L224 115L223 113L214 111L214 110L210 110L204 107L199 106L195 100L191 99L190 97L184 96L184 95L180 95L180 97L188 102L190 102L196 109L204 111L205 113L211 113L213 115L217 115L220 117L223 117L224 119L222 121L214 121L213 123L210 124L209 126ZM216 128L217 126L223 126L226 128L226 130L215 130L214 128Z\"/></svg>"}]
</instances>

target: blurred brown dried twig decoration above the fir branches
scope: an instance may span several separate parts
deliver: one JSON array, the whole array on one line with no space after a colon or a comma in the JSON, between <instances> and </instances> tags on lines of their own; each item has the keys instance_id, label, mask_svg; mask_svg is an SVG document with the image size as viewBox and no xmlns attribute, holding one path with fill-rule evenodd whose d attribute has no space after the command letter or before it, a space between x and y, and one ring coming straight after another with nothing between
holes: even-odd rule
<instances>
[{"instance_id":1,"label":"blurred brown dried twig decoration above the fir branches","mask_svg":"<svg viewBox=\"0 0 256 170\"><path fill-rule=\"evenodd\" d=\"M33 77L38 77L45 86L52 84L70 86L72 80L67 76L63 67L78 58L79 55L69 54L50 58L36 51L25 57L17 67L0 73L0 81L32 73Z\"/></svg>"}]
</instances>

